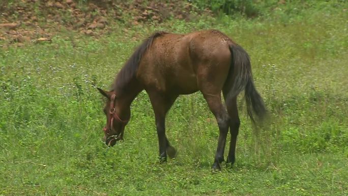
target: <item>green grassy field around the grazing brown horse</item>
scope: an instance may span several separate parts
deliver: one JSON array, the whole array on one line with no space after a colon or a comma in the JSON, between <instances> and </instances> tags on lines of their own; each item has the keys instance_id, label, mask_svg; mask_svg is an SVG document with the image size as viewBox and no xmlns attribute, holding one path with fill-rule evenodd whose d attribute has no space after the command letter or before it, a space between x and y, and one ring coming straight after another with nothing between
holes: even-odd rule
<instances>
[{"instance_id":1,"label":"green grassy field around the grazing brown horse","mask_svg":"<svg viewBox=\"0 0 348 196\"><path fill-rule=\"evenodd\" d=\"M173 19L127 33L120 24L98 40L65 32L51 43L0 49L0 195L348 194L347 7ZM96 87L108 89L152 32L212 28L248 51L271 111L267 128L253 128L240 99L235 165L210 169L218 127L200 93L180 96L167 116L176 159L157 159L145 92L132 104L124 143L107 148Z\"/></svg>"}]
</instances>

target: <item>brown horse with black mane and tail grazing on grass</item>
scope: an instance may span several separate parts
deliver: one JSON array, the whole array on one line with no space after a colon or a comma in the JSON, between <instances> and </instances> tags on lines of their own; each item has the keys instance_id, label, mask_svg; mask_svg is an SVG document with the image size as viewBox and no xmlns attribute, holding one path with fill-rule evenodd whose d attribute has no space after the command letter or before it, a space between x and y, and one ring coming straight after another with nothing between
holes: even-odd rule
<instances>
[{"instance_id":1,"label":"brown horse with black mane and tail grazing on grass","mask_svg":"<svg viewBox=\"0 0 348 196\"><path fill-rule=\"evenodd\" d=\"M179 95L200 91L214 114L220 134L213 169L220 169L228 128L231 141L227 162L235 162L240 120L237 95L245 90L248 114L263 117L266 108L254 87L247 52L223 33L211 30L188 34L157 32L132 54L115 78L111 91L98 89L107 97L104 139L113 146L123 139L130 118L130 105L146 90L155 113L159 156L162 161L176 151L165 135L165 116ZM221 102L221 91L225 106ZM258 118L258 119L261 119Z\"/></svg>"}]
</instances>

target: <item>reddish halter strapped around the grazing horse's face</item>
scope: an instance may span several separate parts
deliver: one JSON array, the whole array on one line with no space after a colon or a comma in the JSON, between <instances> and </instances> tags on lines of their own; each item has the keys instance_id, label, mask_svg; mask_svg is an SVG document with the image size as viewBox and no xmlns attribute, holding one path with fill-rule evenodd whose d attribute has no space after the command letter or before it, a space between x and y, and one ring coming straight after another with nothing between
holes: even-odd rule
<instances>
[{"instance_id":1,"label":"reddish halter strapped around the grazing horse's face","mask_svg":"<svg viewBox=\"0 0 348 196\"><path fill-rule=\"evenodd\" d=\"M110 138L109 144L111 143L111 141L115 140L115 141L119 141L119 140L123 140L123 133L125 130L125 126L127 125L128 120L122 120L119 115L116 113L115 107L114 107L114 100L116 98L116 94L112 94L110 97L110 110L109 110L109 114L110 114L110 118L107 121L107 125L106 127L103 128L105 135L108 135L107 138ZM113 120L117 120L122 124L121 127L121 133L119 135L110 135L111 131L113 131Z\"/></svg>"}]
</instances>

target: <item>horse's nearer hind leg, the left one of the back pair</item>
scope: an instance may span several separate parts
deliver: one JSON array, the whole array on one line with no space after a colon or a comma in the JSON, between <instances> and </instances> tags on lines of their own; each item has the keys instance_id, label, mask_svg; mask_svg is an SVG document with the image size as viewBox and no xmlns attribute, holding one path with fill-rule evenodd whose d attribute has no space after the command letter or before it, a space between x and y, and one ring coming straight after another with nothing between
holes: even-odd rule
<instances>
[{"instance_id":1,"label":"horse's nearer hind leg, the left one of the back pair","mask_svg":"<svg viewBox=\"0 0 348 196\"><path fill-rule=\"evenodd\" d=\"M227 136L228 126L229 126L229 117L225 107L223 106L221 102L221 94L217 94L217 95L203 94L203 95L204 95L204 98L207 100L209 108L214 114L219 126L220 133L219 133L219 139L218 139L218 146L216 149L216 154L215 154L215 159L214 159L212 169L220 170L220 163L224 161L223 153L225 149L226 136Z\"/></svg>"}]
</instances>

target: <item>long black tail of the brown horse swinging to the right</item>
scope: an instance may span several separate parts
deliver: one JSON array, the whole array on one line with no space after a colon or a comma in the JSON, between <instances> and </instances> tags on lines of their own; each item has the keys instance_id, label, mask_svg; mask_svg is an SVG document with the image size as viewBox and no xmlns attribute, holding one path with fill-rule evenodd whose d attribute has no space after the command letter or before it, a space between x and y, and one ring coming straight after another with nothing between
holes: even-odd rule
<instances>
[{"instance_id":1,"label":"long black tail of the brown horse swinging to the right","mask_svg":"<svg viewBox=\"0 0 348 196\"><path fill-rule=\"evenodd\" d=\"M255 89L254 81L251 73L250 58L248 53L237 44L230 44L232 61L229 69L229 79L234 79L231 90L228 92L226 102L235 98L241 91L245 90L245 100L247 104L247 111L250 119L255 123L253 114L263 120L266 115L266 107L262 97Z\"/></svg>"}]
</instances>

